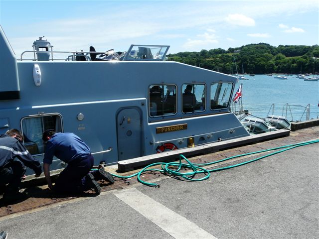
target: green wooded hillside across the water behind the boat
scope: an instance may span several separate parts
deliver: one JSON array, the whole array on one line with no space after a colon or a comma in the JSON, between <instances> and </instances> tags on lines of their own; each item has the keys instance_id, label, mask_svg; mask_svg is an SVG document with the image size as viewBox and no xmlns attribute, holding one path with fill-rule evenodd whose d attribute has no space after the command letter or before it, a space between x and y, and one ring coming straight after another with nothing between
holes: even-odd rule
<instances>
[{"instance_id":1,"label":"green wooded hillside across the water behind the boat","mask_svg":"<svg viewBox=\"0 0 319 239\"><path fill-rule=\"evenodd\" d=\"M238 73L300 74L319 72L319 46L249 44L224 50L221 48L200 52L168 54L168 60L177 61L226 74Z\"/></svg>"}]
</instances>

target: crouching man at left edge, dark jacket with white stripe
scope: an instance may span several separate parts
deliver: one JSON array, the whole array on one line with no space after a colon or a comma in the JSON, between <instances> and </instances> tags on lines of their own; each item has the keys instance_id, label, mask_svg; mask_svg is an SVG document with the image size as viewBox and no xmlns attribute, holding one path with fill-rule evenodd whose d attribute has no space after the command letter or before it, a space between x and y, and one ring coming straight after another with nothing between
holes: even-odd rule
<instances>
[{"instance_id":1,"label":"crouching man at left edge, dark jacket with white stripe","mask_svg":"<svg viewBox=\"0 0 319 239\"><path fill-rule=\"evenodd\" d=\"M35 177L42 173L40 162L31 156L22 141L23 136L17 129L0 135L0 194L4 193L3 199L6 201L24 196L19 193L19 185L25 178L26 167L35 172Z\"/></svg>"}]
</instances>

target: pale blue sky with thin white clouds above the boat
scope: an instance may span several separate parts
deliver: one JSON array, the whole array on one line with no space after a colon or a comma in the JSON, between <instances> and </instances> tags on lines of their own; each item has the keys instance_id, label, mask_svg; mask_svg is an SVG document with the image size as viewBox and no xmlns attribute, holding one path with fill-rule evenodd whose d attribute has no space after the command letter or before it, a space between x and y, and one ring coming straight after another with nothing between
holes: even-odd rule
<instances>
[{"instance_id":1,"label":"pale blue sky with thin white clouds above the boat","mask_svg":"<svg viewBox=\"0 0 319 239\"><path fill-rule=\"evenodd\" d=\"M40 36L55 51L315 45L319 0L0 0L0 25L17 57Z\"/></svg>"}]
</instances>

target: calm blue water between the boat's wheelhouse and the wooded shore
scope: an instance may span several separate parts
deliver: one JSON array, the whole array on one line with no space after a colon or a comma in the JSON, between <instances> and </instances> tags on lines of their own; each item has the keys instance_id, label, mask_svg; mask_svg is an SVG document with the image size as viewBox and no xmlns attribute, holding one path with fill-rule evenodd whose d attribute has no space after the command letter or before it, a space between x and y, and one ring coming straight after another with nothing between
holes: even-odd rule
<instances>
[{"instance_id":1,"label":"calm blue water between the boat's wheelhouse and the wooded shore","mask_svg":"<svg viewBox=\"0 0 319 239\"><path fill-rule=\"evenodd\" d=\"M291 106L292 116L288 108L289 120L306 120L305 107L310 104L310 119L319 118L319 82L307 82L296 78L296 75L287 76L287 80L274 78L276 75L255 75L245 77L249 80L240 80L235 87L243 84L243 109L249 114L266 118L272 104L275 104L274 115L282 116L283 106ZM296 106L300 105L300 106ZM304 113L305 112L305 113ZM272 115L272 111L270 112ZM286 108L284 109L286 116Z\"/></svg>"}]
</instances>

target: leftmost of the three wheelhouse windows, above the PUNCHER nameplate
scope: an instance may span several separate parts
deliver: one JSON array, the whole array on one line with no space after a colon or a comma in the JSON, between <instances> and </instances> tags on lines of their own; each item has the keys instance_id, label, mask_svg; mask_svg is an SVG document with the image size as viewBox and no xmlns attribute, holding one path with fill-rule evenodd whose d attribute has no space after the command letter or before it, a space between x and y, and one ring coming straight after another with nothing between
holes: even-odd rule
<instances>
[{"instance_id":1,"label":"leftmost of the three wheelhouse windows, above the PUNCHER nameplate","mask_svg":"<svg viewBox=\"0 0 319 239\"><path fill-rule=\"evenodd\" d=\"M151 117L176 114L176 90L175 85L152 85L149 87Z\"/></svg>"}]
</instances>

